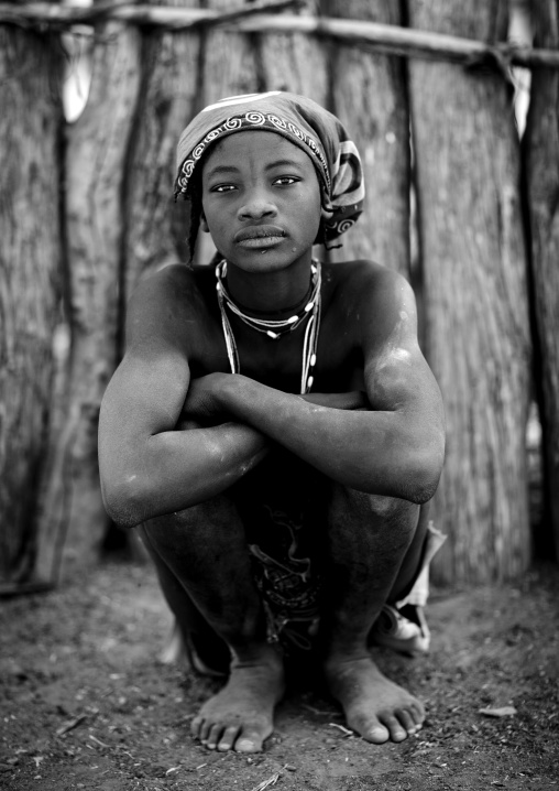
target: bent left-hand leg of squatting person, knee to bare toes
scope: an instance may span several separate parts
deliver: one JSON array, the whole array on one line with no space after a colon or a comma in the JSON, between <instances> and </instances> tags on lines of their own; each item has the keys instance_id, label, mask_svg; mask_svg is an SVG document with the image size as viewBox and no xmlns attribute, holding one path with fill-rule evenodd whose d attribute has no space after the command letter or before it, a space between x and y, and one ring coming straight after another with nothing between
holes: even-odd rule
<instances>
[{"instance_id":1,"label":"bent left-hand leg of squatting person, knee to bare toes","mask_svg":"<svg viewBox=\"0 0 559 791\"><path fill-rule=\"evenodd\" d=\"M193 720L193 735L210 749L261 750L284 691L283 660L266 640L245 530L232 499L220 496L152 519L143 531L165 570L164 584L182 628L190 628L191 616L191 609L182 608L194 603L231 654L229 680Z\"/></svg>"}]
</instances>

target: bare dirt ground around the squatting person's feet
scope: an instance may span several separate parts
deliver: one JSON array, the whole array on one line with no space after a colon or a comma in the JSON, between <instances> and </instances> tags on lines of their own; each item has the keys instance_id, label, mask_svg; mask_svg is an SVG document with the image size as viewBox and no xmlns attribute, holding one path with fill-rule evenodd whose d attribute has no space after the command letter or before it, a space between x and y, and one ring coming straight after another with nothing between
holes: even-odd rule
<instances>
[{"instance_id":1,"label":"bare dirt ground around the squatting person's feet","mask_svg":"<svg viewBox=\"0 0 559 791\"><path fill-rule=\"evenodd\" d=\"M303 689L280 706L265 751L246 757L191 740L189 720L217 683L158 661L171 617L152 568L105 563L0 602L0 788L555 789L558 594L557 567L501 589L435 593L430 655L379 653L428 709L405 743L349 735L336 703Z\"/></svg>"}]
</instances>

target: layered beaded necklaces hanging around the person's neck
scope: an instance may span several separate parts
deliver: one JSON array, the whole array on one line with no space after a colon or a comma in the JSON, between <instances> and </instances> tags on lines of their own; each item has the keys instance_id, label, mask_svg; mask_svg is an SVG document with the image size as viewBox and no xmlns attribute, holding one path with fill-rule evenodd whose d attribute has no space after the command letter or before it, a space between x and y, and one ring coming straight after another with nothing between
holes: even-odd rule
<instances>
[{"instance_id":1,"label":"layered beaded necklaces hanging around the person's neck","mask_svg":"<svg viewBox=\"0 0 559 791\"><path fill-rule=\"evenodd\" d=\"M300 373L300 392L308 393L313 387L313 369L317 361L318 332L320 329L320 308L321 308L321 272L320 261L313 259L310 264L310 285L302 306L288 318L278 321L255 318L243 312L239 303L233 302L231 295L226 289L224 280L227 278L227 261L222 260L216 267L216 278L218 280L216 289L218 292L218 303L221 313L221 325L223 327L223 336L226 339L227 356L231 366L231 373L240 372L239 351L234 339L233 331L227 315L226 306L231 313L239 316L249 327L259 333L264 333L272 340L278 340L284 335L293 333L305 322L305 337L303 339L303 364Z\"/></svg>"}]
</instances>

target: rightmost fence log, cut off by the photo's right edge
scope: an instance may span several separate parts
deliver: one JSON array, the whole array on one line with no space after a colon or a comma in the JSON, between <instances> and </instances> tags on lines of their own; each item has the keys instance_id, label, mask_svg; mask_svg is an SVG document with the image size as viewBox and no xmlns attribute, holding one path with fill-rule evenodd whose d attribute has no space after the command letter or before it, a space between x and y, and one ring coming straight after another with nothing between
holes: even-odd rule
<instances>
[{"instance_id":1,"label":"rightmost fence log, cut off by the photo's right edge","mask_svg":"<svg viewBox=\"0 0 559 791\"><path fill-rule=\"evenodd\" d=\"M559 46L557 0L534 3L536 46ZM531 230L531 275L541 375L544 466L549 532L559 557L559 72L533 72L524 161Z\"/></svg>"}]
</instances>

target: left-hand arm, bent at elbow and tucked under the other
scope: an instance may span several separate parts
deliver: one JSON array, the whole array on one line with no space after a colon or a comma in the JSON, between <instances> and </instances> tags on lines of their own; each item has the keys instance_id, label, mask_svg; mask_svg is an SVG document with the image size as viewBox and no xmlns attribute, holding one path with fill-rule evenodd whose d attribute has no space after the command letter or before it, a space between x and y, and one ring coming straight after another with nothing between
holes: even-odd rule
<instances>
[{"instance_id":1,"label":"left-hand arm, bent at elbow and tucked under the other","mask_svg":"<svg viewBox=\"0 0 559 791\"><path fill-rule=\"evenodd\" d=\"M187 274L162 272L141 284L129 305L127 354L99 420L103 501L123 527L213 497L271 446L257 429L231 419L177 431L190 382L185 349L193 301Z\"/></svg>"}]
</instances>

